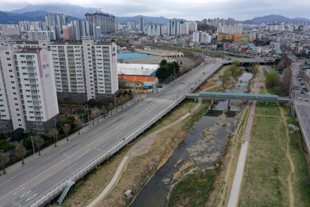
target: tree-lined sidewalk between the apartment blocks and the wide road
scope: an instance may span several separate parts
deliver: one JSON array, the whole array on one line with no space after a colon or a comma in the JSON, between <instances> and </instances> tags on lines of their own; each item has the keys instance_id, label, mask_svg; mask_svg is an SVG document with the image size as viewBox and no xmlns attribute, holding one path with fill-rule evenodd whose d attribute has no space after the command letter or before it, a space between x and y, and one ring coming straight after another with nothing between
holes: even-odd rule
<instances>
[{"instance_id":1,"label":"tree-lined sidewalk between the apartment blocks and the wide road","mask_svg":"<svg viewBox=\"0 0 310 207\"><path fill-rule=\"evenodd\" d=\"M138 102L138 101L137 101L137 99L136 99L136 103L137 103L137 102ZM131 101L128 101L128 102L127 102L127 107L132 106L133 104L135 104L135 102L134 102L133 100L132 100L132 103L131 103ZM123 111L123 110L124 110L125 108L127 108L127 107L126 107L126 104L123 105L123 109L121 109L122 106L117 107L117 112L116 112L116 113L118 113L118 112L120 112L120 111ZM93 120L90 121L90 122L88 122L88 123L85 123L84 125L89 124L89 125L91 126L91 128L89 127L89 125L88 125L88 126L84 126L84 129L83 129L83 127L81 127L81 128L79 129L80 135L82 135L83 133L86 133L87 131L89 131L90 129L92 129L94 126L96 126L96 125L100 124L101 122L103 122L104 120L107 120L107 119L109 119L110 117L114 116L116 113L115 113L114 110L113 110L113 111L112 111L112 115L111 115L111 112L109 111L109 116L106 116L106 118L104 118L104 115L101 115L101 116L98 118L98 121L99 121L98 123L97 123L97 119L95 118L94 125L93 125ZM85 130L85 132L84 132L84 130ZM75 132L75 133L73 133L73 134L71 134L70 136L68 136L68 139L69 139L68 142L73 141L75 138L78 138L78 136L80 136L80 135L78 135L78 131ZM62 140L58 141L58 146L61 146L62 144L65 144L65 143L68 143L66 140L67 140L66 138L63 138ZM56 144L57 144L57 143L56 143ZM41 156L46 155L48 152L50 152L50 151L52 151L52 150L54 150L54 149L57 149L57 147L55 147L55 145L54 145L54 143L53 143L53 144L47 146L46 148L40 150ZM36 158L39 158L39 152L36 152L36 153L35 153L35 157L36 157ZM11 166L9 166L9 167L6 167L6 168L5 168L6 174L5 174L5 175L8 175L10 172L12 172L12 171L14 171L14 170L16 170L16 169L18 169L18 168L20 168L20 167L22 167L22 166L25 166L26 164L29 164L29 163L30 163L31 161L33 161L33 160L34 160L34 155L31 155L31 156L29 156L29 157L27 157L27 158L24 159L24 162L25 162L24 165L21 164L22 161L19 161L19 162L16 162L15 164L13 164L13 165L11 165ZM5 176L5 175L2 175L2 176Z\"/></svg>"}]
</instances>

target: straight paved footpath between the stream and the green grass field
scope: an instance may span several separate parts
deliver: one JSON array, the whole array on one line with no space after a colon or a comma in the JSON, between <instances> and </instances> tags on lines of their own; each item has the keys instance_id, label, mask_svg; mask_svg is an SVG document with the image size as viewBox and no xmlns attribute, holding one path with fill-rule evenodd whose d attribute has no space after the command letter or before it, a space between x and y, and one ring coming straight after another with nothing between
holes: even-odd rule
<instances>
[{"instance_id":1,"label":"straight paved footpath between the stream and the green grass field","mask_svg":"<svg viewBox=\"0 0 310 207\"><path fill-rule=\"evenodd\" d=\"M256 88L255 88L254 94L258 94L258 92L260 90L260 86L261 86L261 84L263 84L263 82L261 82L262 80L263 80L263 70L262 70L262 66L261 66L260 67L260 78L255 80ZM243 137L244 143L242 144L242 147L241 147L236 174L234 175L234 178L233 178L233 188L231 191L231 195L230 195L227 207L236 207L237 206L240 185L241 185L243 172L244 172L244 165L245 165L245 161L246 161L246 157L247 157L248 141L249 141L249 136L250 136L250 132L251 132L255 106L256 106L256 101L253 101L250 113L248 115L248 123L247 123L246 131L245 131L245 134Z\"/></svg>"}]
</instances>

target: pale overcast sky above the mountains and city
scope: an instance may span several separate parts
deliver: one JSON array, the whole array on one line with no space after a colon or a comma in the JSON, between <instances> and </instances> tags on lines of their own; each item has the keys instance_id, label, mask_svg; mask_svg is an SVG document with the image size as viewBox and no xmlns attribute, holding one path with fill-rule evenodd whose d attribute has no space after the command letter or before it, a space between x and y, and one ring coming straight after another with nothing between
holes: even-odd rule
<instances>
[{"instance_id":1,"label":"pale overcast sky above the mountains and city","mask_svg":"<svg viewBox=\"0 0 310 207\"><path fill-rule=\"evenodd\" d=\"M0 0L0 10L12 11L28 4L43 3L93 8L107 6L114 16L164 16L194 21L217 17L247 20L273 14L310 18L310 0Z\"/></svg>"}]
</instances>

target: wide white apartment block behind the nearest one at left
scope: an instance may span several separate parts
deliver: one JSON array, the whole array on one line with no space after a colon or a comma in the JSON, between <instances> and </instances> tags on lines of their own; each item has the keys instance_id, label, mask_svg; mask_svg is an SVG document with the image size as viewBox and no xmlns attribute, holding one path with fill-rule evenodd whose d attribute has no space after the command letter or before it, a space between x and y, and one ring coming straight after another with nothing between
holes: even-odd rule
<instances>
[{"instance_id":1,"label":"wide white apartment block behind the nearest one at left","mask_svg":"<svg viewBox=\"0 0 310 207\"><path fill-rule=\"evenodd\" d=\"M76 103L118 95L117 54L113 42L95 42L83 37L78 42L16 42L20 48L45 47L51 51L57 98Z\"/></svg>"}]
</instances>

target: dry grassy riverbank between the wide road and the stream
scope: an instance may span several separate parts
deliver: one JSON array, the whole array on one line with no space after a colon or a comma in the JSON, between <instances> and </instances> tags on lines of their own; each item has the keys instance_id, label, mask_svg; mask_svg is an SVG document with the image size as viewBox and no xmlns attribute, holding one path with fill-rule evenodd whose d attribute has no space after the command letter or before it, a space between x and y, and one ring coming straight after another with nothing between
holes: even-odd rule
<instances>
[{"instance_id":1,"label":"dry grassy riverbank between the wide road and the stream","mask_svg":"<svg viewBox=\"0 0 310 207\"><path fill-rule=\"evenodd\" d=\"M115 156L111 156L109 160L103 162L102 165L98 166L97 169L93 170L93 172L91 172L90 174L86 175L83 179L81 179L80 181L78 181L77 184L77 192L74 192L73 195L68 195L68 199L64 200L62 203L62 207L85 207L87 206L89 203L91 203L91 201L96 198L101 191L103 191L103 189L105 189L105 187L108 185L109 181L112 179L113 175L115 174L119 164L121 163L122 159L124 159L124 156L126 155L126 153L129 151L129 149L134 146L135 143L138 143L142 138L144 138L145 136L148 136L149 134L153 133L154 131L156 131L159 128L165 127L173 122L175 122L176 120L182 118L183 116L185 116L188 111L193 110L193 108L195 108L198 104L197 102L194 102L193 99L186 99L184 100L181 104L179 104L179 106L175 107L174 110L172 110L171 112L167 113L166 116L164 116L162 118L162 120L158 121L155 125L153 125L151 128L147 129L146 131L144 131L143 134L141 134L136 140L134 140L133 142L129 143L128 146L124 147L122 150L120 150L118 153L115 154ZM208 105L209 103L203 103L203 107L206 107L206 105ZM205 109L204 109L205 110ZM194 113L192 113L194 114ZM190 117L190 116L188 116ZM190 118L192 119L192 118ZM190 122L191 123L191 122ZM190 126L186 126L186 127L190 127ZM175 132L175 134L178 134L178 130ZM170 136L170 137L169 137ZM169 138L167 138L169 137ZM135 167L129 168L129 170L133 170L130 171L130 174L132 174L132 176L126 176L125 177L125 183L124 185L127 183L128 184L134 184L135 182L137 183L137 179L139 179L140 182L140 178L141 176L134 176L134 175L138 175L141 174L141 172L148 172L148 174L144 175L144 176L151 176L152 173L154 174L153 170L154 168L152 168L152 170L150 169L150 162L146 159L146 157L149 157L148 155L150 153L153 153L151 155L151 157L155 157L155 159L151 160L151 161L156 161L156 162L160 162L163 158L165 154L169 154L171 153L169 151L169 149L171 148L175 148L175 146L173 144L176 143L175 140L178 140L180 138L182 138L182 133L178 134L178 137L176 139L174 139L173 143L171 143L171 140L175 138L175 136L173 135L173 133L168 132L165 133L165 136L161 136L160 138L158 136L155 136L155 138L153 140L153 143L149 143L148 146L146 147L146 149L148 150L146 153L143 152L142 155L138 156L138 155L134 155L132 154L131 156L131 160L128 159L127 164L125 166L126 170L123 170L122 175L129 173L128 172L128 163L136 163L136 159L139 159L138 163L136 164ZM159 141L158 141L159 140ZM170 142L169 142L170 140ZM171 143L172 145L168 147L168 143ZM159 146L158 146L159 144ZM152 147L151 147L152 146ZM150 150L153 149L155 146L161 148L161 150L163 151L164 154L156 154L156 151L154 153L154 150ZM167 149L166 149L167 148ZM139 148L140 150L143 150L141 148ZM151 152L149 152L151 151ZM140 154L140 153L138 153ZM136 158L137 157L137 158ZM155 166L158 166L158 163L155 164ZM153 166L154 164L152 164ZM139 166L139 167L137 167ZM97 175L96 172L99 172L99 174ZM143 179L143 181L145 181ZM135 184L136 185L136 184ZM140 184L137 184L136 187L141 188ZM143 185L142 185L143 186ZM105 198L109 198L108 201L111 202L109 203L110 206L114 206L114 202L118 203L118 202L124 202L122 204L119 204L120 206L122 205L126 205L125 203L128 202L128 200L126 200L124 198L124 193L122 191L119 191L120 189L123 189L124 187L121 185L120 186L114 186L112 188L111 191L109 191L109 193L105 196ZM125 188L124 188L125 189ZM128 189L126 189L128 190ZM130 190L133 190L130 189ZM138 191L133 191L134 193L138 193ZM115 198L115 199L113 199ZM105 199L107 200L107 199ZM109 206L108 205L108 206ZM117 206L117 205L116 205Z\"/></svg>"}]
</instances>

